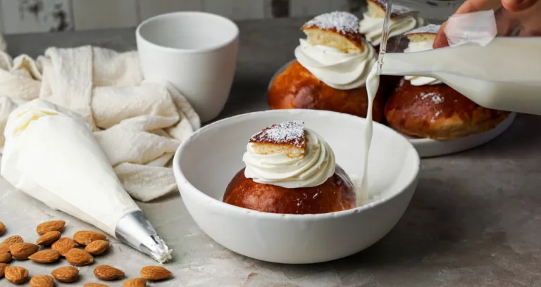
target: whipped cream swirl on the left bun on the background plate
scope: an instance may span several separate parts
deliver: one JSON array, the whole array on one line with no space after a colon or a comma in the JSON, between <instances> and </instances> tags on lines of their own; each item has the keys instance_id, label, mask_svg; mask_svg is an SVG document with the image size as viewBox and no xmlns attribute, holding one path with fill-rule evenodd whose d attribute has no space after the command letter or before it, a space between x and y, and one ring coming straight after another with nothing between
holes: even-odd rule
<instances>
[{"instance_id":1,"label":"whipped cream swirl on the left bun on the background plate","mask_svg":"<svg viewBox=\"0 0 541 287\"><path fill-rule=\"evenodd\" d=\"M375 63L376 54L371 45L362 53L343 53L323 45L312 45L305 39L295 49L295 58L314 77L335 89L364 87L366 77Z\"/></svg>"}]
</instances>

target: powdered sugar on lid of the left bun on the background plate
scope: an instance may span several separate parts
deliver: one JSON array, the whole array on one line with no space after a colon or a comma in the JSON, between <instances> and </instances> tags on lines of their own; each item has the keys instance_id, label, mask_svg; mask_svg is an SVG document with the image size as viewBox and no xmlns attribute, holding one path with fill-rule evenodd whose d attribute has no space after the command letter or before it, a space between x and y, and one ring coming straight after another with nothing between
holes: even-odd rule
<instances>
[{"instance_id":1,"label":"powdered sugar on lid of the left bun on the background plate","mask_svg":"<svg viewBox=\"0 0 541 287\"><path fill-rule=\"evenodd\" d=\"M347 12L335 11L318 15L309 20L306 27L318 27L323 30L336 30L340 34L359 32L359 18Z\"/></svg>"}]
</instances>

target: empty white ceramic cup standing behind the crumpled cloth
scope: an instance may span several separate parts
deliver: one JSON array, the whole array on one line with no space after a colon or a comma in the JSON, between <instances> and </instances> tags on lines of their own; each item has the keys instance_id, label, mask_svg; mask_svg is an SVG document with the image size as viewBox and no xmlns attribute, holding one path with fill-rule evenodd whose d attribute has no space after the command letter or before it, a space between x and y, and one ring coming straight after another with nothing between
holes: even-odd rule
<instances>
[{"instance_id":1,"label":"empty white ceramic cup standing behind the crumpled cloth","mask_svg":"<svg viewBox=\"0 0 541 287\"><path fill-rule=\"evenodd\" d=\"M239 46L239 29L220 15L175 12L137 27L137 50L145 79L173 84L208 122L228 100Z\"/></svg>"}]
</instances>

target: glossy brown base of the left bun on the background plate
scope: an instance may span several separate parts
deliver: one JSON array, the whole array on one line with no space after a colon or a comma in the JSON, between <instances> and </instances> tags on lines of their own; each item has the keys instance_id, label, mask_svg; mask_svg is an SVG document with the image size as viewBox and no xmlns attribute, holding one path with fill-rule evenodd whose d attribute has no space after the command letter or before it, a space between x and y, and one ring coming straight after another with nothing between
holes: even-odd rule
<instances>
[{"instance_id":1,"label":"glossy brown base of the left bun on the background plate","mask_svg":"<svg viewBox=\"0 0 541 287\"><path fill-rule=\"evenodd\" d=\"M384 84L380 85L382 88ZM383 120L383 91L379 89L372 109L373 120ZM366 87L339 90L329 87L314 77L297 60L277 75L268 91L268 105L271 109L309 108L332 110L366 117L368 98Z\"/></svg>"}]
</instances>

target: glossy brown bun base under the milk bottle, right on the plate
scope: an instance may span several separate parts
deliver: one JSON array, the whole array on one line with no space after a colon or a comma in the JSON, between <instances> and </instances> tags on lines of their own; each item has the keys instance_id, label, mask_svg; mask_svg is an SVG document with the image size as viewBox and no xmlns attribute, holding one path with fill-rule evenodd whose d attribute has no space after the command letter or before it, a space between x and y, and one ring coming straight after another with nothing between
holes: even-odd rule
<instances>
[{"instance_id":1,"label":"glossy brown bun base under the milk bottle, right on the plate","mask_svg":"<svg viewBox=\"0 0 541 287\"><path fill-rule=\"evenodd\" d=\"M413 86L406 79L385 105L385 118L397 131L440 140L486 132L508 115L483 108L446 84Z\"/></svg>"}]
</instances>

